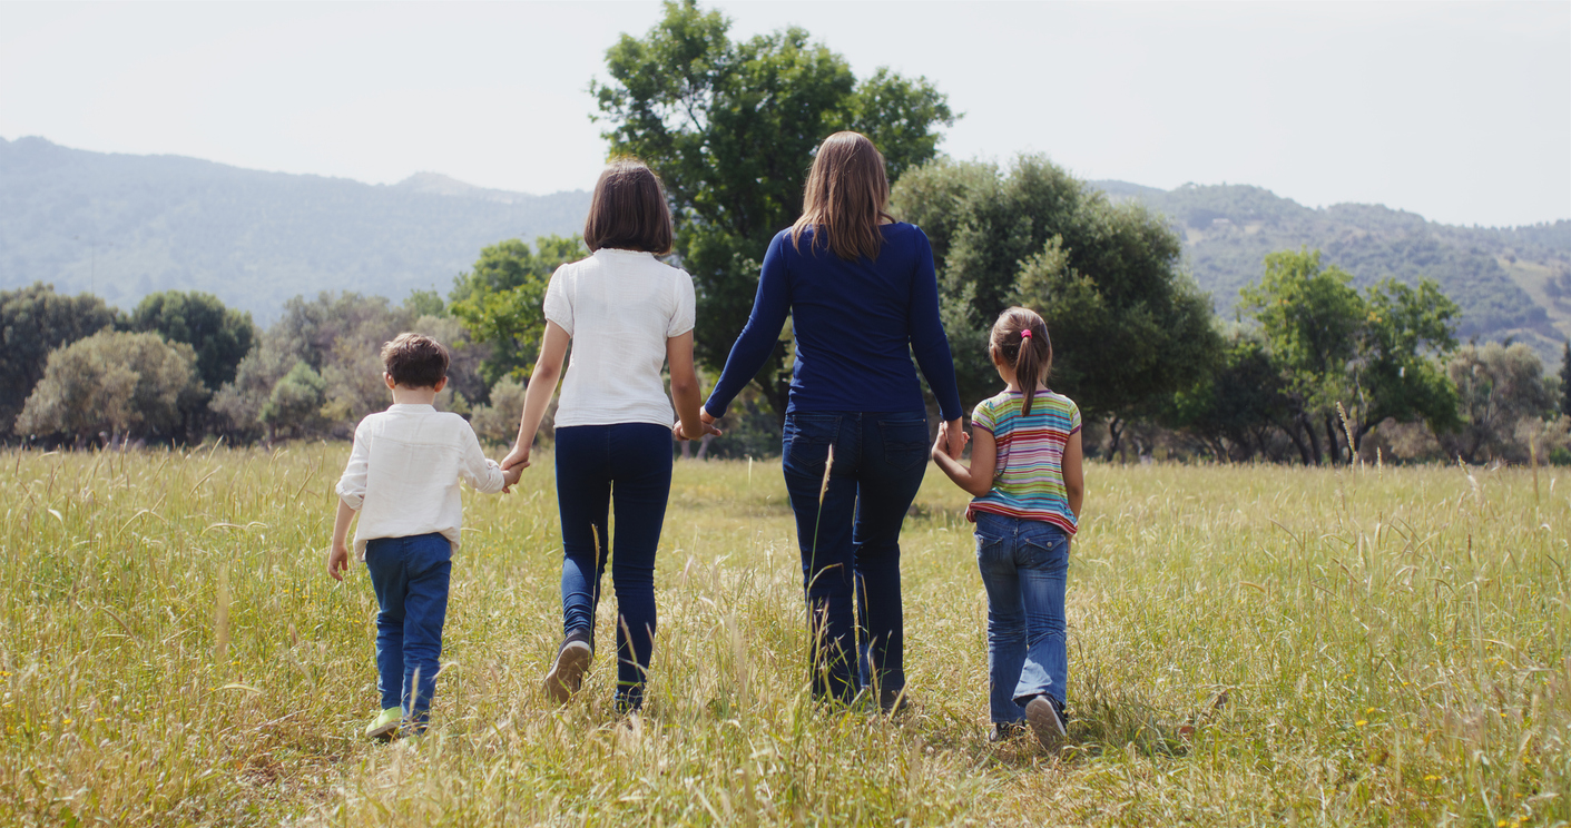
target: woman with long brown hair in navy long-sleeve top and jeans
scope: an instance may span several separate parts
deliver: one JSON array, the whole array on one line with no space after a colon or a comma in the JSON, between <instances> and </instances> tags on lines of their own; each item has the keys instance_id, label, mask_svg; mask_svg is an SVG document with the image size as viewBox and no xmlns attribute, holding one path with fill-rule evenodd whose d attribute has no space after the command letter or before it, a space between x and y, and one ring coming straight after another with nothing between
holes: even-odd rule
<instances>
[{"instance_id":1,"label":"woman with long brown hair in navy long-sleeve top and jeans","mask_svg":"<svg viewBox=\"0 0 1571 828\"><path fill-rule=\"evenodd\" d=\"M851 701L869 690L892 709L905 688L900 523L928 454L911 352L938 398L952 454L965 432L938 321L933 250L921 229L884 212L888 203L889 179L872 141L829 135L812 162L801 218L764 255L753 316L701 416L713 423L726 413L790 314L796 366L782 465L807 592L814 694Z\"/></svg>"}]
</instances>

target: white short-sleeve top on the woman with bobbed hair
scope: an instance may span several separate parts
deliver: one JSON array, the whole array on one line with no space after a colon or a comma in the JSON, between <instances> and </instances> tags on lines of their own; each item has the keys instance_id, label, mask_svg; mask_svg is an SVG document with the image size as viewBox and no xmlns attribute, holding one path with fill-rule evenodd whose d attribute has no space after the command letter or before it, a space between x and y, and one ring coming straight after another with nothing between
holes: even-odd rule
<instances>
[{"instance_id":1,"label":"white short-sleeve top on the woman with bobbed hair","mask_svg":"<svg viewBox=\"0 0 1571 828\"><path fill-rule=\"evenodd\" d=\"M693 277L650 253L595 250L545 289L545 319L573 339L556 427L655 423L676 410L660 376L666 339L693 330Z\"/></svg>"}]
</instances>

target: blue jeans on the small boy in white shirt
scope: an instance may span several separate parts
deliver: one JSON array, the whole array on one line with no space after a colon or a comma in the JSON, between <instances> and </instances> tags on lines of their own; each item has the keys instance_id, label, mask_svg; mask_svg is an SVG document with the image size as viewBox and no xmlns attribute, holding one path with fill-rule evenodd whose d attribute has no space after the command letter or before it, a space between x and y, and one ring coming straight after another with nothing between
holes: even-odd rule
<instances>
[{"instance_id":1,"label":"blue jeans on the small boy in white shirt","mask_svg":"<svg viewBox=\"0 0 1571 828\"><path fill-rule=\"evenodd\" d=\"M440 534L366 542L366 570L377 594L377 691L382 709L402 707L424 724L441 669L452 545Z\"/></svg>"}]
</instances>

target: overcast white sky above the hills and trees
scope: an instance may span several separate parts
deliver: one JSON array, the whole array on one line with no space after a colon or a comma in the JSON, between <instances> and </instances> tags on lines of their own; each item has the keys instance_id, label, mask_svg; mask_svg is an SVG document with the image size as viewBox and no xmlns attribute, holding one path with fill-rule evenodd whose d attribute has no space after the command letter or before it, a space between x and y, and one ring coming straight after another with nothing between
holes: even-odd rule
<instances>
[{"instance_id":1,"label":"overcast white sky above the hills and trees","mask_svg":"<svg viewBox=\"0 0 1571 828\"><path fill-rule=\"evenodd\" d=\"M1571 3L723 2L927 75L950 156L1258 184L1448 223L1571 218ZM545 193L605 157L589 79L658 3L0 3L0 137ZM3 182L0 182L3 185Z\"/></svg>"}]
</instances>

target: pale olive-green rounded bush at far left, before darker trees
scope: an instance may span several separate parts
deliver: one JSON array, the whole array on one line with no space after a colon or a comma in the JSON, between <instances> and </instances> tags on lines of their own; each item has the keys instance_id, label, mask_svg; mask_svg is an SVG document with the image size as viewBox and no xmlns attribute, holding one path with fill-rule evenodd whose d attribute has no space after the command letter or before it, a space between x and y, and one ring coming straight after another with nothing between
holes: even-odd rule
<instances>
[{"instance_id":1,"label":"pale olive-green rounded bush at far left, before darker trees","mask_svg":"<svg viewBox=\"0 0 1571 828\"><path fill-rule=\"evenodd\" d=\"M16 427L77 443L101 434L112 440L171 437L182 401L203 393L195 363L189 344L170 344L156 333L94 333L49 355Z\"/></svg>"}]
</instances>

